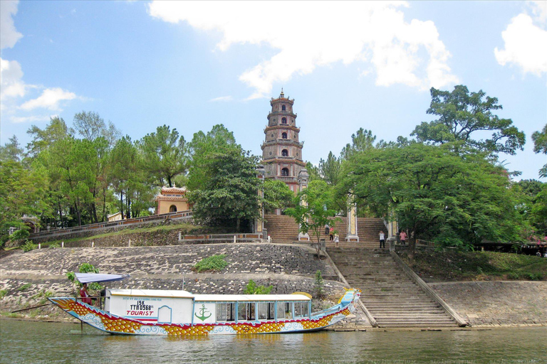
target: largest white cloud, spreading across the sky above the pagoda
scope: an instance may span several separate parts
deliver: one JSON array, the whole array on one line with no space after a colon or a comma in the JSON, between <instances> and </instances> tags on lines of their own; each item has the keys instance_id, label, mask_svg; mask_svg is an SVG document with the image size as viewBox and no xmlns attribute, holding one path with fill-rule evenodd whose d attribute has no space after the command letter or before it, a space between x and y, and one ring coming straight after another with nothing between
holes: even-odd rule
<instances>
[{"instance_id":1,"label":"largest white cloud, spreading across the sky above the pagoda","mask_svg":"<svg viewBox=\"0 0 547 364\"><path fill-rule=\"evenodd\" d=\"M274 82L312 73L336 62L372 64L376 84L428 89L458 82L450 53L432 21L405 21L402 1L152 1L149 14L217 31L219 50L232 44L266 44L278 53L239 79L254 88L250 98L271 94ZM427 59L418 54L425 50Z\"/></svg>"}]
</instances>

